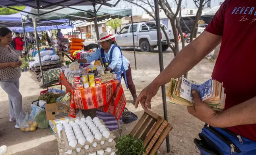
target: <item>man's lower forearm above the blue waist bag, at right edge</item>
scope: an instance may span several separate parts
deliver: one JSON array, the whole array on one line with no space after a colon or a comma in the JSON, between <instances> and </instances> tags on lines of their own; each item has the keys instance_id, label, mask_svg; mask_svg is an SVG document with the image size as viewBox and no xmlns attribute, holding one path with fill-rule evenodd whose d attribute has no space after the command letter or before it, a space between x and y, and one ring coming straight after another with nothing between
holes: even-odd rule
<instances>
[{"instance_id":1,"label":"man's lower forearm above the blue waist bag, at right edge","mask_svg":"<svg viewBox=\"0 0 256 155\"><path fill-rule=\"evenodd\" d=\"M256 97L237 104L223 112L219 112L216 117L215 127L233 127L237 125L256 124Z\"/></svg>"}]
</instances>

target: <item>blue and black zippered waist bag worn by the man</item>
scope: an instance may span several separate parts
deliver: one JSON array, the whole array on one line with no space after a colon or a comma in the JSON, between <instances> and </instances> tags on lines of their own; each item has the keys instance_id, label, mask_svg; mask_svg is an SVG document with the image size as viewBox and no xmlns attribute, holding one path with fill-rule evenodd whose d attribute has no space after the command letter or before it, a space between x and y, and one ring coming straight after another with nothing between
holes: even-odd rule
<instances>
[{"instance_id":1,"label":"blue and black zippered waist bag worn by the man","mask_svg":"<svg viewBox=\"0 0 256 155\"><path fill-rule=\"evenodd\" d=\"M194 143L201 155L256 155L256 142L225 128L204 125Z\"/></svg>"}]
</instances>

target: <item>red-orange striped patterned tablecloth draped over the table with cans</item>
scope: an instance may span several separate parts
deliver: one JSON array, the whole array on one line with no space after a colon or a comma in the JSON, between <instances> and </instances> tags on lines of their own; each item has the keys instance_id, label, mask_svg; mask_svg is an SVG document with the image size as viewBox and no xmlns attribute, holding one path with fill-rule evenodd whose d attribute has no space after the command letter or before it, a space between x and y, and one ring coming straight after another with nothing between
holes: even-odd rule
<instances>
[{"instance_id":1,"label":"red-orange striped patterned tablecloth draped over the table with cans","mask_svg":"<svg viewBox=\"0 0 256 155\"><path fill-rule=\"evenodd\" d=\"M76 116L77 109L97 108L103 112L111 113L116 120L120 118L126 105L124 90L117 79L102 83L96 87L74 90L68 83L64 73L60 73L59 83L72 94L70 100L70 116Z\"/></svg>"}]
</instances>

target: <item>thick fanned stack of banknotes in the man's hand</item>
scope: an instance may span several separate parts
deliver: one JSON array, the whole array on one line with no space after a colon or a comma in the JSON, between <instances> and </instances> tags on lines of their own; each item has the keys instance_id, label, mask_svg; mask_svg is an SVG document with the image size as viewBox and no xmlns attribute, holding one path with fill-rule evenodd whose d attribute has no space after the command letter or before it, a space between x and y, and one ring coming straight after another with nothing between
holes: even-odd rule
<instances>
[{"instance_id":1,"label":"thick fanned stack of banknotes in the man's hand","mask_svg":"<svg viewBox=\"0 0 256 155\"><path fill-rule=\"evenodd\" d=\"M224 94L223 83L214 79L197 85L184 77L171 79L167 92L167 100L173 104L193 106L194 100L192 90L196 90L201 100L211 106L214 110L222 111L225 106L226 94Z\"/></svg>"}]
</instances>

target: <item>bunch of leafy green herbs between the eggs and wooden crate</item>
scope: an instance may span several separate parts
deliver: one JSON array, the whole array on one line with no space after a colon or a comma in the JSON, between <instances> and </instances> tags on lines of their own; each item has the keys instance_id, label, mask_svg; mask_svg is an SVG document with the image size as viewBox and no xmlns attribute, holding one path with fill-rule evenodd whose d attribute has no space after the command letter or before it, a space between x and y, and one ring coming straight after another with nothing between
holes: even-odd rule
<instances>
[{"instance_id":1,"label":"bunch of leafy green herbs between the eggs and wooden crate","mask_svg":"<svg viewBox=\"0 0 256 155\"><path fill-rule=\"evenodd\" d=\"M116 149L117 155L143 155L145 152L143 141L130 135L118 138Z\"/></svg>"}]
</instances>

